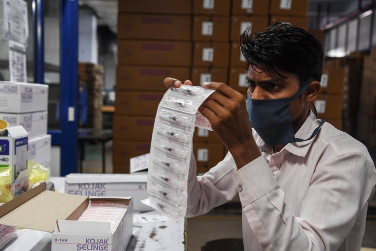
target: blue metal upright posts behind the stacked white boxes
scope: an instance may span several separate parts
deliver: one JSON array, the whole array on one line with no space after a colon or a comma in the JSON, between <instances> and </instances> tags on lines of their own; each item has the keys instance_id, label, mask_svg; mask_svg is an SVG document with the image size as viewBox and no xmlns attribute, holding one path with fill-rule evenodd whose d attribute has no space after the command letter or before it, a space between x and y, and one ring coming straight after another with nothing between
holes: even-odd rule
<instances>
[{"instance_id":1,"label":"blue metal upright posts behind the stacked white boxes","mask_svg":"<svg viewBox=\"0 0 376 251\"><path fill-rule=\"evenodd\" d=\"M34 81L44 83L44 0L33 0ZM60 129L48 130L60 146L60 175L77 172L78 0L60 0Z\"/></svg>"}]
</instances>

